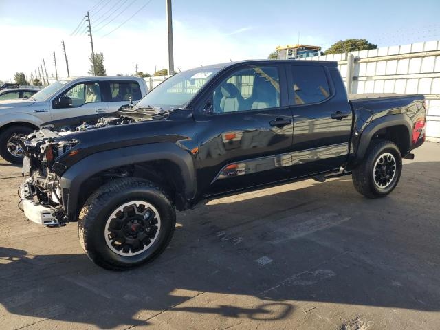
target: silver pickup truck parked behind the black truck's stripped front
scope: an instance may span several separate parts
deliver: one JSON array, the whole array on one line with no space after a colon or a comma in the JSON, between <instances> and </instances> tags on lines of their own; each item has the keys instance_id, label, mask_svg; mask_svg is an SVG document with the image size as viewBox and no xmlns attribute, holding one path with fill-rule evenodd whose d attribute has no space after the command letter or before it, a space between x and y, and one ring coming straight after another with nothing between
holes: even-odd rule
<instances>
[{"instance_id":1,"label":"silver pickup truck parked behind the black truck's stripped front","mask_svg":"<svg viewBox=\"0 0 440 330\"><path fill-rule=\"evenodd\" d=\"M26 100L0 101L0 155L14 164L23 162L18 138L41 124L80 123L115 113L148 92L145 80L124 76L91 76L59 80Z\"/></svg>"}]
</instances>

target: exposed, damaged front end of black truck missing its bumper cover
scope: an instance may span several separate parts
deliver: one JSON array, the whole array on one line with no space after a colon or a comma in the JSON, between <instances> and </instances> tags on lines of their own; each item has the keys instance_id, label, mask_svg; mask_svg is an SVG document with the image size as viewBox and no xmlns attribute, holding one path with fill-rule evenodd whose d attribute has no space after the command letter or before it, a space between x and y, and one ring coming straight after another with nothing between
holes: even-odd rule
<instances>
[{"instance_id":1,"label":"exposed, damaged front end of black truck missing its bumper cover","mask_svg":"<svg viewBox=\"0 0 440 330\"><path fill-rule=\"evenodd\" d=\"M60 175L56 173L55 159L78 144L78 141L57 142L58 133L42 129L21 139L23 149L23 176L20 186L22 210L32 222L58 226L68 222L63 208Z\"/></svg>"}]
</instances>

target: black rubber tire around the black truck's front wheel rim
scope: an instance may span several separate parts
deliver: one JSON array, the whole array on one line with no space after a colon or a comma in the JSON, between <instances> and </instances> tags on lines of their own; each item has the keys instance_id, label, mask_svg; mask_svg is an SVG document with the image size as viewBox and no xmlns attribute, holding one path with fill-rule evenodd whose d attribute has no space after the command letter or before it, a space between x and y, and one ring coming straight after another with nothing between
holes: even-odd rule
<instances>
[{"instance_id":1,"label":"black rubber tire around the black truck's front wheel rim","mask_svg":"<svg viewBox=\"0 0 440 330\"><path fill-rule=\"evenodd\" d=\"M107 245L104 227L113 210L130 201L147 201L160 214L161 228L148 250L135 256L121 256ZM87 256L107 270L126 270L148 263L161 254L173 237L175 208L166 192L140 178L115 179L93 192L78 219L78 237Z\"/></svg>"}]
</instances>

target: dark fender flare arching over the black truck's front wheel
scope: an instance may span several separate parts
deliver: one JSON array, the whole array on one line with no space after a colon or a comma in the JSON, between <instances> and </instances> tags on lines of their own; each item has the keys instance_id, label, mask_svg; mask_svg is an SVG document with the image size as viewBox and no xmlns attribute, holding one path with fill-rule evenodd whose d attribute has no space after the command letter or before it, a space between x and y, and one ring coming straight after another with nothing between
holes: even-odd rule
<instances>
[{"instance_id":1,"label":"dark fender flare arching over the black truck's front wheel","mask_svg":"<svg viewBox=\"0 0 440 330\"><path fill-rule=\"evenodd\" d=\"M181 195L187 201L195 197L195 164L189 151L170 142L128 146L89 155L63 173L60 182L61 195L69 221L76 219L80 187L87 179L110 168L154 160L168 160L177 165L184 182Z\"/></svg>"}]
</instances>

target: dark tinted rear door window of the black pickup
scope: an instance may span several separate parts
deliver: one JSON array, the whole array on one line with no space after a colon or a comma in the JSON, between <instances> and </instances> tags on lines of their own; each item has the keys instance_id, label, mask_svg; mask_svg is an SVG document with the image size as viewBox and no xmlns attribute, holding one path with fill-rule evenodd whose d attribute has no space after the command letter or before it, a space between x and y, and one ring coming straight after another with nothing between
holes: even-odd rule
<instances>
[{"instance_id":1,"label":"dark tinted rear door window of the black pickup","mask_svg":"<svg viewBox=\"0 0 440 330\"><path fill-rule=\"evenodd\" d=\"M292 65L291 74L292 105L314 104L330 98L331 89L322 65Z\"/></svg>"}]
</instances>

